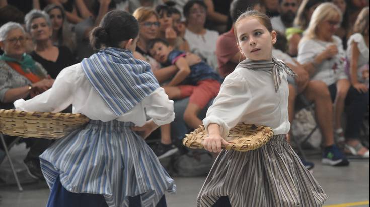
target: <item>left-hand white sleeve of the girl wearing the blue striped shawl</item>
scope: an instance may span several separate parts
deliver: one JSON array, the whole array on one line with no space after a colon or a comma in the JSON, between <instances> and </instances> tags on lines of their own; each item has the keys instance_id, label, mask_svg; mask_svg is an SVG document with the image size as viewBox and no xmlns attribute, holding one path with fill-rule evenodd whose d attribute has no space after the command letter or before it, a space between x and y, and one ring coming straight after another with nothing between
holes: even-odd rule
<instances>
[{"instance_id":1,"label":"left-hand white sleeve of the girl wearing the blue striped shawl","mask_svg":"<svg viewBox=\"0 0 370 207\"><path fill-rule=\"evenodd\" d=\"M75 67L63 69L56 77L53 86L27 101L18 99L14 102L17 110L59 112L67 108L73 101L76 79Z\"/></svg>"}]
</instances>

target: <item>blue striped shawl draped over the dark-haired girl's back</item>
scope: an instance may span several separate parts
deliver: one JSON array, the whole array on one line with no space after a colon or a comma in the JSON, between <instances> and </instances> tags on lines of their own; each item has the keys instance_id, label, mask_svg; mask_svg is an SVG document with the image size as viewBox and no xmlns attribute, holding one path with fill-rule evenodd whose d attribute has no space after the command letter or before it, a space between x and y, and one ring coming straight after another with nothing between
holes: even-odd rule
<instances>
[{"instance_id":1,"label":"blue striped shawl draped over the dark-haired girl's back","mask_svg":"<svg viewBox=\"0 0 370 207\"><path fill-rule=\"evenodd\" d=\"M151 66L135 59L132 52L106 48L81 62L86 78L117 116L159 88Z\"/></svg>"}]
</instances>

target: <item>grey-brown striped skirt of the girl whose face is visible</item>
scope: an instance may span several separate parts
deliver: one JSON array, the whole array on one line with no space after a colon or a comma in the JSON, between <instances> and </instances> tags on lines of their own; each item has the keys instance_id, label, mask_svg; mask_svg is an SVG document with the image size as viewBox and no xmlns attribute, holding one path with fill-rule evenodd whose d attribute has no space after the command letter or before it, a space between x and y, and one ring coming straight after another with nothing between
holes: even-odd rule
<instances>
[{"instance_id":1,"label":"grey-brown striped skirt of the girl whose face is visible","mask_svg":"<svg viewBox=\"0 0 370 207\"><path fill-rule=\"evenodd\" d=\"M275 135L248 152L223 150L214 162L197 205L228 196L231 206L322 206L327 195L285 140Z\"/></svg>"}]
</instances>

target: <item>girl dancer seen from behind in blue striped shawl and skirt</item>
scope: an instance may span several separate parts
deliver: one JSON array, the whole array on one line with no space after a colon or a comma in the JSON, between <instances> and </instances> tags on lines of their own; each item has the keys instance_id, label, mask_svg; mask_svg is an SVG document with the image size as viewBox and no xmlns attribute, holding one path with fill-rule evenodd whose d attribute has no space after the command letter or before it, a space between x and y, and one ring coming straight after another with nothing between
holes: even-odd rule
<instances>
[{"instance_id":1,"label":"girl dancer seen from behind in blue striped shawl and skirt","mask_svg":"<svg viewBox=\"0 0 370 207\"><path fill-rule=\"evenodd\" d=\"M14 103L42 112L73 104L74 113L91 119L40 156L51 189L47 206L166 206L164 193L176 191L143 139L174 112L150 65L132 55L138 32L132 15L107 13L90 35L98 53L62 70L45 93Z\"/></svg>"}]
</instances>

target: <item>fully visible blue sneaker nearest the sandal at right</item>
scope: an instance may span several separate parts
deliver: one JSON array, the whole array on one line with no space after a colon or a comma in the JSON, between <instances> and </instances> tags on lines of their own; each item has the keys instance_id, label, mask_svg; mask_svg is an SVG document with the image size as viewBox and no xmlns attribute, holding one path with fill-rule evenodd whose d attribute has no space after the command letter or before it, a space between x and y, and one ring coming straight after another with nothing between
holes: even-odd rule
<instances>
[{"instance_id":1,"label":"fully visible blue sneaker nearest the sandal at right","mask_svg":"<svg viewBox=\"0 0 370 207\"><path fill-rule=\"evenodd\" d=\"M338 149L336 145L330 147L325 147L323 152L323 164L331 166L348 166L349 161L343 155L343 153Z\"/></svg>"}]
</instances>

